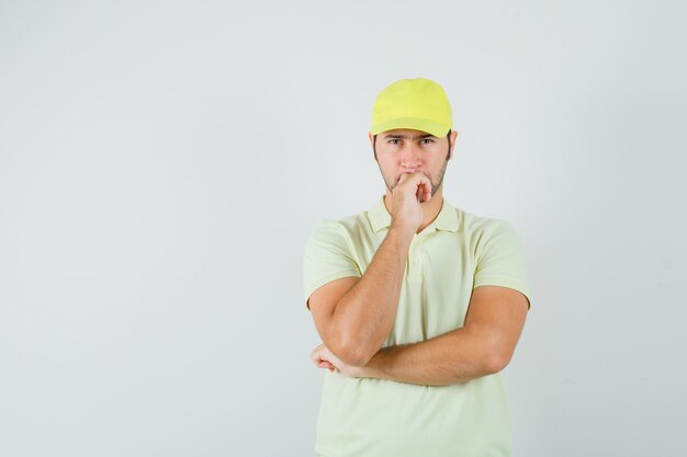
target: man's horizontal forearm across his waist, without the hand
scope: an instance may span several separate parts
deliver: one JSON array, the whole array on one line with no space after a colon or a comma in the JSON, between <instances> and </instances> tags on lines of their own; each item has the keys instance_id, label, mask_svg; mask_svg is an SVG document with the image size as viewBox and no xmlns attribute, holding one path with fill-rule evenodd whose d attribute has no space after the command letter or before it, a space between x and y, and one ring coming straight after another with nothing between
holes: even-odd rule
<instances>
[{"instance_id":1,"label":"man's horizontal forearm across his waist, without the hand","mask_svg":"<svg viewBox=\"0 0 687 457\"><path fill-rule=\"evenodd\" d=\"M492 375L505 367L488 334L460 328L419 343L380 350L362 377L424 386L447 386Z\"/></svg>"}]
</instances>

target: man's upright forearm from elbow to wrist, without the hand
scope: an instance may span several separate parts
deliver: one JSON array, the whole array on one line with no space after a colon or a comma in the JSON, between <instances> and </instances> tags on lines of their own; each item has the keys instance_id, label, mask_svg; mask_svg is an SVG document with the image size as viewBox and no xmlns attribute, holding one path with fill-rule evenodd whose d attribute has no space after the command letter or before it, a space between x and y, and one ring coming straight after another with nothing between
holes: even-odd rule
<instances>
[{"instance_id":1,"label":"man's upright forearm from elbow to wrist, without the hand","mask_svg":"<svg viewBox=\"0 0 687 457\"><path fill-rule=\"evenodd\" d=\"M336 306L331 350L353 365L365 365L392 330L412 239L413 232L392 226L361 279Z\"/></svg>"}]
</instances>

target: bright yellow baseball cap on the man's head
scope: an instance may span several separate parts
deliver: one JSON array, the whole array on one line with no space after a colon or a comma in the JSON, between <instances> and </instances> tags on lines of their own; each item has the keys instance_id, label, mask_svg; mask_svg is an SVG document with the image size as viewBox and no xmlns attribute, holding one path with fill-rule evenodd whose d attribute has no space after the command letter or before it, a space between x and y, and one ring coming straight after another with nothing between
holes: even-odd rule
<instances>
[{"instance_id":1,"label":"bright yellow baseball cap on the man's head","mask_svg":"<svg viewBox=\"0 0 687 457\"><path fill-rule=\"evenodd\" d=\"M402 79L376 96L370 133L412 128L442 137L452 124L451 105L441 85L425 78Z\"/></svg>"}]
</instances>

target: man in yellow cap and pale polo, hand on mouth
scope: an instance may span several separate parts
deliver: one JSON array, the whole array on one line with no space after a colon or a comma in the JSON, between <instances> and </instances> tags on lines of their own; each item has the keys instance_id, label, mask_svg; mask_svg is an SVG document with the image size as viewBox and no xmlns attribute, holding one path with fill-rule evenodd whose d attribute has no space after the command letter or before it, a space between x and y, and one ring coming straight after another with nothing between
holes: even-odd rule
<instances>
[{"instance_id":1,"label":"man in yellow cap and pale polo, hand on mouth","mask_svg":"<svg viewBox=\"0 0 687 457\"><path fill-rule=\"evenodd\" d=\"M312 358L327 368L318 456L510 455L498 373L529 310L526 264L508 222L442 197L451 126L436 82L384 89L369 136L385 195L307 241Z\"/></svg>"}]
</instances>

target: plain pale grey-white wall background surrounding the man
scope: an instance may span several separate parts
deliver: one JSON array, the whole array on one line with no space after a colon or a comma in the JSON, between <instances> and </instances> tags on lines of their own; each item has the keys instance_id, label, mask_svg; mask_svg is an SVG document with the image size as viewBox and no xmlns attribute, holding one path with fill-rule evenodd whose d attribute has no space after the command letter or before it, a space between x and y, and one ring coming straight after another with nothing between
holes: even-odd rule
<instances>
[{"instance_id":1,"label":"plain pale grey-white wall background surrounding the man","mask_svg":"<svg viewBox=\"0 0 687 457\"><path fill-rule=\"evenodd\" d=\"M1 1L0 455L308 456L317 220L401 78L521 236L516 457L684 449L683 1Z\"/></svg>"}]
</instances>

